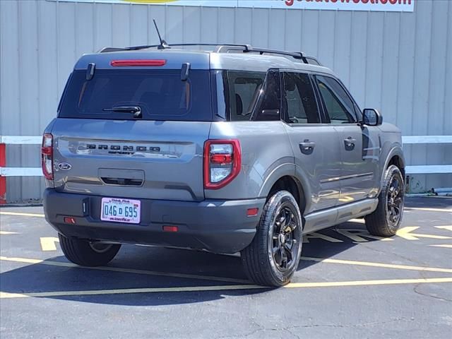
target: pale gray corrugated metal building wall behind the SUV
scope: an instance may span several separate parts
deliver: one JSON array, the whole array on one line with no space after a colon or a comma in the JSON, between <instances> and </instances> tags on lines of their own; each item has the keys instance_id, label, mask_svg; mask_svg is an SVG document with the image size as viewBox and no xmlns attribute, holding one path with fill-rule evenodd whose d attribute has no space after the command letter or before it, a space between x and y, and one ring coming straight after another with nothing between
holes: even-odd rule
<instances>
[{"instance_id":1,"label":"pale gray corrugated metal building wall behind the SUV","mask_svg":"<svg viewBox=\"0 0 452 339\"><path fill-rule=\"evenodd\" d=\"M403 135L452 134L452 1L414 13L0 1L0 133L40 135L55 117L76 59L105 46L236 42L319 57L359 105ZM39 167L39 147L8 146L8 167ZM452 145L405 148L409 164L452 164ZM8 201L40 198L36 177L8 178ZM414 191L452 186L452 174L415 176Z\"/></svg>"}]
</instances>

